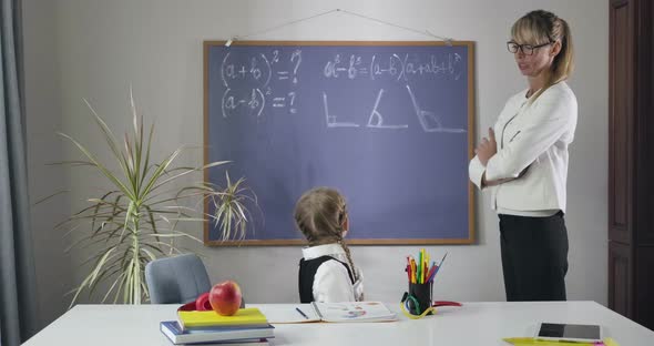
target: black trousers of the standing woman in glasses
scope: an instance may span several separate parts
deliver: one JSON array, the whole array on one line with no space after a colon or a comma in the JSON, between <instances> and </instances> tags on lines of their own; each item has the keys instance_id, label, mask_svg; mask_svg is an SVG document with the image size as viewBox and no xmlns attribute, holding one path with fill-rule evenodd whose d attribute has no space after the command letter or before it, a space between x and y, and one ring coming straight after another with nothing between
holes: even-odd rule
<instances>
[{"instance_id":1,"label":"black trousers of the standing woman in glasses","mask_svg":"<svg viewBox=\"0 0 654 346\"><path fill-rule=\"evenodd\" d=\"M500 234L507 301L565 301L563 213L549 217L500 214Z\"/></svg>"}]
</instances>

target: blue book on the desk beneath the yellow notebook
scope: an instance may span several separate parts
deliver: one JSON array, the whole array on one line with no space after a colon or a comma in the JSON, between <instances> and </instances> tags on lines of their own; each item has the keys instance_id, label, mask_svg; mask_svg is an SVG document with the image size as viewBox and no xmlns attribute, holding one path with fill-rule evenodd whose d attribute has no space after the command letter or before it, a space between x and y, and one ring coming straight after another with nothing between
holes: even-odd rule
<instances>
[{"instance_id":1,"label":"blue book on the desk beneath the yellow notebook","mask_svg":"<svg viewBox=\"0 0 654 346\"><path fill-rule=\"evenodd\" d=\"M267 338L275 337L275 327L272 325L256 327L200 327L182 329L176 320L164 320L161 332L175 345L180 344L207 344L217 345L267 345ZM234 344L236 343L236 344Z\"/></svg>"}]
</instances>

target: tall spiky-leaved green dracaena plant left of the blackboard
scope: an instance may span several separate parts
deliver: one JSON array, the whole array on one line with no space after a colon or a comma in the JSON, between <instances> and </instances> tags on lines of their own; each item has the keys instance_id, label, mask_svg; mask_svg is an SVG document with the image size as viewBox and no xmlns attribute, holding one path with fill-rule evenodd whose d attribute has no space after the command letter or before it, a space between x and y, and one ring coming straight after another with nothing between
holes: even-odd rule
<instances>
[{"instance_id":1,"label":"tall spiky-leaved green dracaena plant left of the blackboard","mask_svg":"<svg viewBox=\"0 0 654 346\"><path fill-rule=\"evenodd\" d=\"M244 179L233 183L226 174L225 186L202 181L184 184L190 175L226 161L197 167L177 166L175 160L184 147L155 161L152 153L154 124L144 135L143 116L137 116L131 92L133 132L125 133L122 143L89 102L86 105L102 130L111 151L111 162L102 162L74 138L60 133L74 144L83 159L55 164L98 170L110 187L89 197L85 207L57 226L67 230L67 235L81 233L67 252L75 247L89 247L93 252L82 263L91 266L90 272L70 292L73 295L71 307L82 292L96 294L100 286L105 289L100 294L103 303L141 304L147 301L145 265L157 257L181 253L182 248L175 244L181 237L202 242L180 230L181 226L212 222L223 241L245 237L251 218L245 202L256 205L256 195L244 185ZM210 203L215 212L205 214L204 203Z\"/></svg>"}]
</instances>

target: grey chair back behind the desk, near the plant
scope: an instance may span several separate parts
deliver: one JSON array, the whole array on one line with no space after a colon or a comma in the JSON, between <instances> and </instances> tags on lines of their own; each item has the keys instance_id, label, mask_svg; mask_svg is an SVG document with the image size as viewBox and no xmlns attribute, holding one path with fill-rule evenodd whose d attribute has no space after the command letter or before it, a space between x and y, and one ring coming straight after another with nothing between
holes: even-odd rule
<instances>
[{"instance_id":1,"label":"grey chair back behind the desk, near the plant","mask_svg":"<svg viewBox=\"0 0 654 346\"><path fill-rule=\"evenodd\" d=\"M186 304L212 288L206 268L195 254L147 263L145 282L152 304Z\"/></svg>"}]
</instances>

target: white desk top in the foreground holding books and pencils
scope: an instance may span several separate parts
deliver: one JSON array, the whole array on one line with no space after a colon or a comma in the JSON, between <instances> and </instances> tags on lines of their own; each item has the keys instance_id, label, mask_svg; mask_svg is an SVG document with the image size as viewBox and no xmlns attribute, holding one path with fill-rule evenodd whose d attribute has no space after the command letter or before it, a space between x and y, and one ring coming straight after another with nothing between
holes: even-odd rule
<instances>
[{"instance_id":1,"label":"white desk top in the foreground holding books and pencils","mask_svg":"<svg viewBox=\"0 0 654 346\"><path fill-rule=\"evenodd\" d=\"M285 304L253 304L266 313ZM388 304L398 311L398 303ZM175 319L177 305L78 305L25 346L171 346L159 323ZM594 302L464 303L419 320L398 314L391 323L277 324L273 345L508 345L539 322L600 324L621 346L652 346L654 332Z\"/></svg>"}]
</instances>

